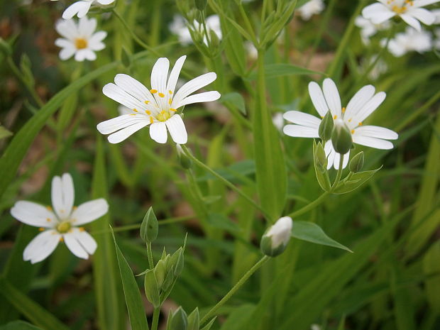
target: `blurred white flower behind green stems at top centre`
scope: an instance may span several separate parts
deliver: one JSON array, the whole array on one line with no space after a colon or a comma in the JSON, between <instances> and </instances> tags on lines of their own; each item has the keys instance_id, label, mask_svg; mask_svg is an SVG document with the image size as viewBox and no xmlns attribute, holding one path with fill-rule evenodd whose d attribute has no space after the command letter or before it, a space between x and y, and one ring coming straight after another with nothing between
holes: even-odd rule
<instances>
[{"instance_id":1,"label":"blurred white flower behind green stems at top centre","mask_svg":"<svg viewBox=\"0 0 440 330\"><path fill-rule=\"evenodd\" d=\"M192 26L197 33L203 33L203 26L197 21L192 22ZM220 18L218 15L211 15L207 17L206 26L208 33L209 31L214 31L217 37L221 40L221 26L220 26ZM186 46L192 44L191 33L189 33L189 29L187 27L187 22L185 18L180 15L175 15L172 22L170 23L170 31L177 35L179 38L179 42ZM207 45L207 39L204 38L204 43Z\"/></svg>"}]
</instances>

